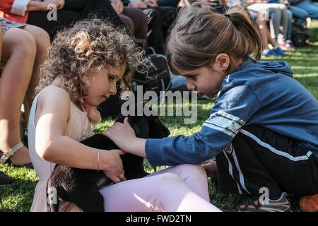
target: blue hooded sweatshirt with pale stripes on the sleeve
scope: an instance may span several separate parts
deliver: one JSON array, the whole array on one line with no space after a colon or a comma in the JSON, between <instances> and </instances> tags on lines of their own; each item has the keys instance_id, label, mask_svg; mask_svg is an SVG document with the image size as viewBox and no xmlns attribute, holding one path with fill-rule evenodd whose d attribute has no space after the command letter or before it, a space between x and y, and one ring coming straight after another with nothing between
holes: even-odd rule
<instances>
[{"instance_id":1,"label":"blue hooded sweatshirt with pale stripes on the sleeve","mask_svg":"<svg viewBox=\"0 0 318 226\"><path fill-rule=\"evenodd\" d=\"M249 58L225 78L211 115L192 136L148 138L153 166L200 164L218 155L242 126L259 124L295 139L318 157L318 101L285 61Z\"/></svg>"}]
</instances>

